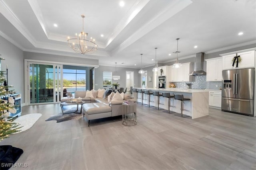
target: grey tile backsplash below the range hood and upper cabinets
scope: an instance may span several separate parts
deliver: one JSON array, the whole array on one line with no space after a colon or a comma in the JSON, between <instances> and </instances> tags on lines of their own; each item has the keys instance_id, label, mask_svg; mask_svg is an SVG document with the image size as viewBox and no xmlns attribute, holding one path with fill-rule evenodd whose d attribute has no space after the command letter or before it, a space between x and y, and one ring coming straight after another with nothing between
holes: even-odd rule
<instances>
[{"instance_id":1,"label":"grey tile backsplash below the range hood and upper cabinets","mask_svg":"<svg viewBox=\"0 0 256 170\"><path fill-rule=\"evenodd\" d=\"M186 83L191 83L190 88L192 89L219 90L222 82L206 82L206 75L195 76L194 82L174 82L176 88L188 88Z\"/></svg>"}]
</instances>

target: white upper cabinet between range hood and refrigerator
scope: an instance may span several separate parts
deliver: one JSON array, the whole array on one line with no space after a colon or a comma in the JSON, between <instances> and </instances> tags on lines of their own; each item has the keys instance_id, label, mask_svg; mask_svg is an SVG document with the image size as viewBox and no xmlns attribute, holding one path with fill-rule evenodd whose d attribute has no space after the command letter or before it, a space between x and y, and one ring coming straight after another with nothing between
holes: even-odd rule
<instances>
[{"instance_id":1,"label":"white upper cabinet between range hood and refrigerator","mask_svg":"<svg viewBox=\"0 0 256 170\"><path fill-rule=\"evenodd\" d=\"M206 81L222 81L222 57L207 59Z\"/></svg>"}]
</instances>

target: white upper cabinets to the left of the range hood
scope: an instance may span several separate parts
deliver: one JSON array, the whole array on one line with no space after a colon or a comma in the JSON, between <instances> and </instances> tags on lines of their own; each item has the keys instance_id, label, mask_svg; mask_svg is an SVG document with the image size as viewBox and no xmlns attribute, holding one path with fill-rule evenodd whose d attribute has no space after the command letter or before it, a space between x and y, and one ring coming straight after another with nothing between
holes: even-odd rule
<instances>
[{"instance_id":1,"label":"white upper cabinets to the left of the range hood","mask_svg":"<svg viewBox=\"0 0 256 170\"><path fill-rule=\"evenodd\" d=\"M191 82L193 77L189 76L189 74L192 71L192 63L184 63L180 68L170 67L169 82Z\"/></svg>"}]
</instances>

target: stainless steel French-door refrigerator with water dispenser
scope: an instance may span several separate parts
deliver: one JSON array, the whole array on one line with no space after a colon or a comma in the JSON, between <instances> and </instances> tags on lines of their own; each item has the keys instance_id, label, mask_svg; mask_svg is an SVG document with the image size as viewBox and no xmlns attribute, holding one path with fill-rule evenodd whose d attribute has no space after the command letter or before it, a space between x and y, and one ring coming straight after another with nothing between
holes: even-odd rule
<instances>
[{"instance_id":1,"label":"stainless steel French-door refrigerator with water dispenser","mask_svg":"<svg viewBox=\"0 0 256 170\"><path fill-rule=\"evenodd\" d=\"M253 116L254 68L222 71L222 111Z\"/></svg>"}]
</instances>

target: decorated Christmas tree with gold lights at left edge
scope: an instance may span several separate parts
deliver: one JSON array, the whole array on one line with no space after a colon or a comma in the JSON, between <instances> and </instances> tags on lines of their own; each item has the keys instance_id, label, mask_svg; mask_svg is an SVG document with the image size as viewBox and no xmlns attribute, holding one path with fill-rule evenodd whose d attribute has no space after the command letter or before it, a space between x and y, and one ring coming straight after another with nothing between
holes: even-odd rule
<instances>
[{"instance_id":1,"label":"decorated Christmas tree with gold lights at left edge","mask_svg":"<svg viewBox=\"0 0 256 170\"><path fill-rule=\"evenodd\" d=\"M12 86L8 86L4 77L4 72L0 71L0 141L4 138L8 138L8 136L12 133L16 133L20 130L18 127L18 123L14 123L14 117L8 117L9 113L7 110L12 109L14 106L10 107L7 103L10 92L9 88ZM7 101L6 101L7 100Z\"/></svg>"}]
</instances>

